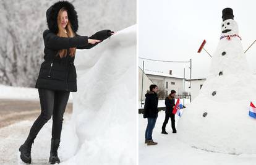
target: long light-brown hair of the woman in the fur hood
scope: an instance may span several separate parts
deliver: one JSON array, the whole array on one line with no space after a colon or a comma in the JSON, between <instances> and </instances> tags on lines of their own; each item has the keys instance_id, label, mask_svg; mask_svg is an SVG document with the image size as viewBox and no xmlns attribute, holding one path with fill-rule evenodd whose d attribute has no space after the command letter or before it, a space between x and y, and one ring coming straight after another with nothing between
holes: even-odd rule
<instances>
[{"instance_id":1,"label":"long light-brown hair of the woman in the fur hood","mask_svg":"<svg viewBox=\"0 0 256 165\"><path fill-rule=\"evenodd\" d=\"M58 13L58 28L59 28L59 32L57 33L58 36L61 36L61 37L74 37L75 36L75 33L74 31L72 30L71 28L71 24L70 22L68 21L67 22L67 25L66 25L66 28L65 30L67 31L67 33L65 33L65 30L64 28L61 27L61 14L62 12L66 11L67 12L67 9L65 7L62 7L60 10L59 10L59 13ZM69 55L71 57L74 57L75 56L75 51L76 51L77 48L69 48ZM58 56L58 55L57 55ZM67 56L67 49L62 49L62 50L59 50L59 56L62 58L62 57L66 57Z\"/></svg>"}]
</instances>

